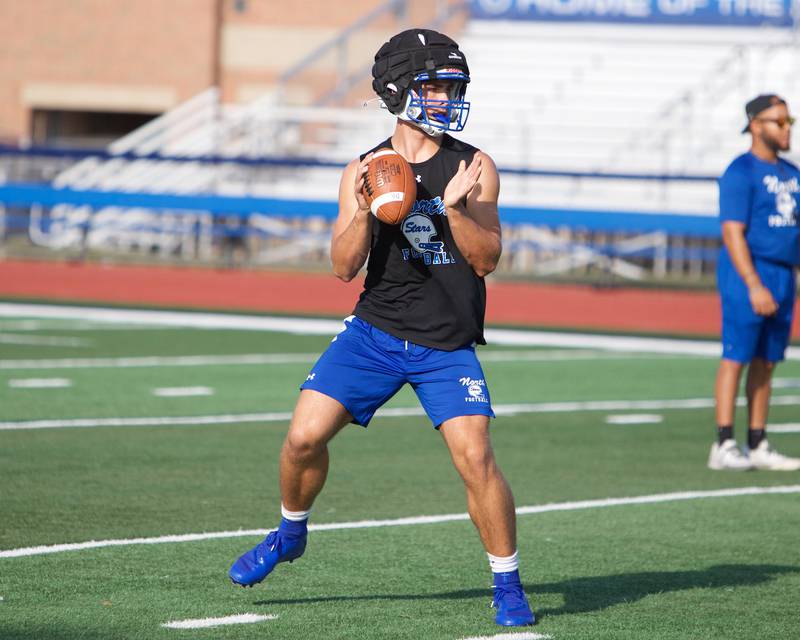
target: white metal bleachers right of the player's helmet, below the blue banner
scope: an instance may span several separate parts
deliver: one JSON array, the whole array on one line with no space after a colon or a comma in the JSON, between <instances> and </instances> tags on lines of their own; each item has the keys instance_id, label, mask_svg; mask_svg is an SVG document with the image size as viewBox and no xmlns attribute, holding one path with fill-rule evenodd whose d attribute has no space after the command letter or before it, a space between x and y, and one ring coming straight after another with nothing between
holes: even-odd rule
<instances>
[{"instance_id":1,"label":"white metal bleachers right of the player's helmet, below the blue banner","mask_svg":"<svg viewBox=\"0 0 800 640\"><path fill-rule=\"evenodd\" d=\"M791 102L797 90L796 48L778 30L472 21L461 40L474 78L470 137L504 167L718 175L747 147L739 135L745 101L778 91ZM713 183L597 180L575 190L570 180L527 182L506 195L716 209Z\"/></svg>"}]
</instances>

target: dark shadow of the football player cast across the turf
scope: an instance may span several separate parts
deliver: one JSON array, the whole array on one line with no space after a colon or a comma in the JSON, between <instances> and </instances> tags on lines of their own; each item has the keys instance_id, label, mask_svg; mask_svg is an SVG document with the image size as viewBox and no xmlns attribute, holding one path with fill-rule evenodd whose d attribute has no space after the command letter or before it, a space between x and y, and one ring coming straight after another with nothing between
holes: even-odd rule
<instances>
[{"instance_id":1,"label":"dark shadow of the football player cast across the turf","mask_svg":"<svg viewBox=\"0 0 800 640\"><path fill-rule=\"evenodd\" d=\"M635 602L642 598L669 591L688 589L719 589L762 584L784 573L800 573L800 567L770 564L721 564L697 571L646 571L622 573L616 576L592 576L574 578L562 582L528 585L526 592L532 599L537 617L557 616L565 613L589 613L600 611L623 602ZM331 595L316 598L276 598L259 600L255 605L308 604L311 602L349 602L359 600L461 600L464 598L487 598L488 589L469 589L429 594L370 594ZM564 605L557 609L539 609L536 596L543 593L560 593Z\"/></svg>"}]
</instances>

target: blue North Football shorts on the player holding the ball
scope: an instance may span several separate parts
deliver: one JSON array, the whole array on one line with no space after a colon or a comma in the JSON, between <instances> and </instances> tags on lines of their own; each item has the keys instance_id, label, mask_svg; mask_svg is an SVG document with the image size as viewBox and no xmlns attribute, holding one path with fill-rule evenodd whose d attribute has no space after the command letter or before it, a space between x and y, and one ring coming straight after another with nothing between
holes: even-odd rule
<instances>
[{"instance_id":1,"label":"blue North Football shorts on the player holding the ball","mask_svg":"<svg viewBox=\"0 0 800 640\"><path fill-rule=\"evenodd\" d=\"M494 417L474 346L442 351L395 338L356 316L344 324L300 388L338 400L356 424L366 427L406 382L437 429L457 416Z\"/></svg>"}]
</instances>

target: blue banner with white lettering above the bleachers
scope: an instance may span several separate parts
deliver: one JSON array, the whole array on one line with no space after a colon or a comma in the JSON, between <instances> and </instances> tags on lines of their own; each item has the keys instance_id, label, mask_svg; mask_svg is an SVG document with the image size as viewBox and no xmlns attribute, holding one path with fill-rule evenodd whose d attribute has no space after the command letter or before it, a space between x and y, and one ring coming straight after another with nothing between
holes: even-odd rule
<instances>
[{"instance_id":1,"label":"blue banner with white lettering above the bleachers","mask_svg":"<svg viewBox=\"0 0 800 640\"><path fill-rule=\"evenodd\" d=\"M473 18L707 26L794 24L793 0L471 0Z\"/></svg>"}]
</instances>

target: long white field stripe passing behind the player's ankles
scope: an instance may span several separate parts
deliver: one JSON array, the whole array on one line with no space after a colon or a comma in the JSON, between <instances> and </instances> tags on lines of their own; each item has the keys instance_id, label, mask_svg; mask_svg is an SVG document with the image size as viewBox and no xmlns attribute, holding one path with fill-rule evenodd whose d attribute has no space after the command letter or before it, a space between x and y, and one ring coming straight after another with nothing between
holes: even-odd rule
<instances>
[{"instance_id":1,"label":"long white field stripe passing behind the player's ankles","mask_svg":"<svg viewBox=\"0 0 800 640\"><path fill-rule=\"evenodd\" d=\"M646 496L628 498L602 498L600 500L581 500L578 502L554 502L530 507L518 507L517 515L524 516L536 513L555 511L578 511L583 509L602 509L635 504L658 504L682 500L702 500L707 498L733 498L738 496L786 495L800 493L800 485L777 487L740 487L736 489L716 489L712 491L678 491L674 493L656 493ZM344 529L373 529L376 527L403 527L420 524L439 524L442 522L459 522L469 520L468 513L450 513L438 516L412 516L392 520L360 520L357 522L331 522L328 524L310 524L309 531L341 531ZM0 551L0 558L20 558L38 556L65 551L82 551L84 549L101 549L104 547L124 547L140 544L165 544L171 542L198 542L220 538L241 538L264 536L269 529L240 529L238 531L216 531L211 533L186 533L181 535L158 536L155 538L127 538L122 540L90 540L69 544L42 545L38 547L22 547Z\"/></svg>"}]
</instances>

